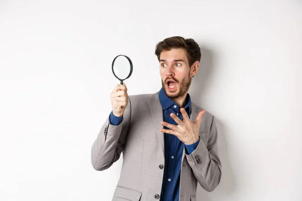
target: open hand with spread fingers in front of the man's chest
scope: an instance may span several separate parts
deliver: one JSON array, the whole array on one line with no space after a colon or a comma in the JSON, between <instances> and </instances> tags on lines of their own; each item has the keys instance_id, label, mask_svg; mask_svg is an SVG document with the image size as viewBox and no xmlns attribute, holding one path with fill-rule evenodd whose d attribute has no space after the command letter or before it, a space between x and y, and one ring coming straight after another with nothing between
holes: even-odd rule
<instances>
[{"instance_id":1,"label":"open hand with spread fingers in front of the man's chest","mask_svg":"<svg viewBox=\"0 0 302 201\"><path fill-rule=\"evenodd\" d=\"M173 125L167 122L162 122L162 125L171 129L161 129L161 132L175 135L180 141L186 145L194 144L199 139L199 127L205 110L201 111L196 120L192 122L184 108L180 109L183 116L183 121L181 121L174 113L170 114L170 117L178 124Z\"/></svg>"}]
</instances>

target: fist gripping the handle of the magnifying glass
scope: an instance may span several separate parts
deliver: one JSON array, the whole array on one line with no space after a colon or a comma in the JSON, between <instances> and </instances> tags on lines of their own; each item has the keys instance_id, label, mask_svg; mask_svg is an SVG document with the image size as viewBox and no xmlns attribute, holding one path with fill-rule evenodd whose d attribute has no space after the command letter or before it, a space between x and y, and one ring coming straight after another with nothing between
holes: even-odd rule
<instances>
[{"instance_id":1,"label":"fist gripping the handle of the magnifying glass","mask_svg":"<svg viewBox=\"0 0 302 201\"><path fill-rule=\"evenodd\" d=\"M126 84L118 84L110 93L112 113L116 117L123 116L128 105L128 94Z\"/></svg>"}]
</instances>

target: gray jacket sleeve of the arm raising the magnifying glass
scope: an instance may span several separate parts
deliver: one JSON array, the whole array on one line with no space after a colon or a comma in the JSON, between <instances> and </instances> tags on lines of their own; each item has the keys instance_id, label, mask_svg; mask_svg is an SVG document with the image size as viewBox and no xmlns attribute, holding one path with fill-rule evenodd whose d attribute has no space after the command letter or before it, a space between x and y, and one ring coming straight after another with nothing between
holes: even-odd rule
<instances>
[{"instance_id":1,"label":"gray jacket sleeve of the arm raising the magnifying glass","mask_svg":"<svg viewBox=\"0 0 302 201\"><path fill-rule=\"evenodd\" d=\"M123 118L119 119L120 122L115 125L111 124L110 115L106 119L91 148L91 163L95 170L108 169L119 159L127 140L130 116L131 102L129 99Z\"/></svg>"}]
</instances>

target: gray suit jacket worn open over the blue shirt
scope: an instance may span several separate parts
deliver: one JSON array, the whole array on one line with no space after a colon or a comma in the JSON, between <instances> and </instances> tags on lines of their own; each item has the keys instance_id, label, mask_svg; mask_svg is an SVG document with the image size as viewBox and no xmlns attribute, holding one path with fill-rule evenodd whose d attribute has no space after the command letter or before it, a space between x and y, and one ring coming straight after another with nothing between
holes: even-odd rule
<instances>
[{"instance_id":1,"label":"gray suit jacket worn open over the blue shirt","mask_svg":"<svg viewBox=\"0 0 302 201\"><path fill-rule=\"evenodd\" d=\"M192 102L191 121L203 109ZM129 95L124 119L118 126L109 116L92 145L92 166L99 171L109 168L123 152L123 164L112 200L154 201L159 199L165 165L163 109L159 91L154 94ZM217 154L215 118L206 112L199 129L200 142L187 155L183 150L180 201L196 201L197 181L207 191L220 182L221 164Z\"/></svg>"}]
</instances>

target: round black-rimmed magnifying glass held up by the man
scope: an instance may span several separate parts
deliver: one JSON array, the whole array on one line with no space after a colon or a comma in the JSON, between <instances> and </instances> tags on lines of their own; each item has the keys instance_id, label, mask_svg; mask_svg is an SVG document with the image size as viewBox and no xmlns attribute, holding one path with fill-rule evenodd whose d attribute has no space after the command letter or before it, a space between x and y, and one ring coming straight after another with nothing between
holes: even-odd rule
<instances>
[{"instance_id":1,"label":"round black-rimmed magnifying glass held up by the man","mask_svg":"<svg viewBox=\"0 0 302 201\"><path fill-rule=\"evenodd\" d=\"M132 69L131 59L125 55L118 55L112 61L112 72L121 81L121 84L123 84L123 80L130 77Z\"/></svg>"}]
</instances>

